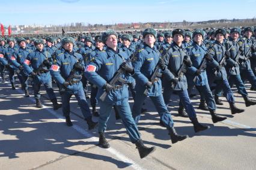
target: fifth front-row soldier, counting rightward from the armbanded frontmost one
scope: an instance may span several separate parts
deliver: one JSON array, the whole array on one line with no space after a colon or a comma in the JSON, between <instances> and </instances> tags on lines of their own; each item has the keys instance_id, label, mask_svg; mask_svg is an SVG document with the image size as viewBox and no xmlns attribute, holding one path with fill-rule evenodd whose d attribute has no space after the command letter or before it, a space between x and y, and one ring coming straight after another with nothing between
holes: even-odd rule
<instances>
[{"instance_id":1,"label":"fifth front-row soldier, counting rightward from the armbanded frontmost one","mask_svg":"<svg viewBox=\"0 0 256 170\"><path fill-rule=\"evenodd\" d=\"M244 112L245 110L239 109L235 105L234 94L231 91L230 84L227 80L227 72L225 67L220 65L221 60L227 55L228 50L226 50L224 45L224 36L226 32L224 29L218 29L215 32L216 41L213 43L213 46L209 53L206 53L205 57L207 59L207 79L209 80L209 85L216 82L216 91L215 91L215 102L216 104L221 104L219 96L216 93L217 91L224 90L224 96L226 97L228 103L230 103L231 114L237 114ZM230 58L226 59L226 62L229 62ZM222 104L223 105L223 104Z\"/></svg>"}]
</instances>

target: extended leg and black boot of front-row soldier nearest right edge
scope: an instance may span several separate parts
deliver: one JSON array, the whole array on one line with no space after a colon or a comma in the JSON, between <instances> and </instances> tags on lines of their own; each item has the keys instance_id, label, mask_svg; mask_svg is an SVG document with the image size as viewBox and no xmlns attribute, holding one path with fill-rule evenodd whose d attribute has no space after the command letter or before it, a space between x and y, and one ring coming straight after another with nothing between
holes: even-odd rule
<instances>
[{"instance_id":1,"label":"extended leg and black boot of front-row soldier nearest right edge","mask_svg":"<svg viewBox=\"0 0 256 170\"><path fill-rule=\"evenodd\" d=\"M234 82L238 90L238 93L241 94L243 96L243 99L245 100L246 107L256 105L256 102L254 100L249 99L248 93L246 91L244 83L242 82L240 74L231 75L229 82Z\"/></svg>"}]
</instances>

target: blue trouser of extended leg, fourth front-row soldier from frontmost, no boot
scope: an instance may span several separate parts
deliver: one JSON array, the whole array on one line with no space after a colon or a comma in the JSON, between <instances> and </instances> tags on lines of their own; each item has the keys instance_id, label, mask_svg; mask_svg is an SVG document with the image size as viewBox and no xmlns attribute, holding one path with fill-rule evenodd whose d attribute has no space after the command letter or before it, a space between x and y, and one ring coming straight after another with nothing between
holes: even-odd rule
<instances>
[{"instance_id":1,"label":"blue trouser of extended leg, fourth front-row soldier from frontmost, no boot","mask_svg":"<svg viewBox=\"0 0 256 170\"><path fill-rule=\"evenodd\" d=\"M212 95L212 91L208 83L206 85L197 85L195 86L201 96L201 100L206 100L206 104L211 111L216 110L216 103Z\"/></svg>"}]
</instances>

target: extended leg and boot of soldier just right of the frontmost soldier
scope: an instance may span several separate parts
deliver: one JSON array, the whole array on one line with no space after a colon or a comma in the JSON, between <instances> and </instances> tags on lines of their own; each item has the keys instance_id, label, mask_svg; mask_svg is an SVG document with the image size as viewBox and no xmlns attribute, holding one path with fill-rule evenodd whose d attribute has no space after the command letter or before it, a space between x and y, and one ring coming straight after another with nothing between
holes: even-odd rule
<instances>
[{"instance_id":1,"label":"extended leg and boot of soldier just right of the frontmost soldier","mask_svg":"<svg viewBox=\"0 0 256 170\"><path fill-rule=\"evenodd\" d=\"M154 106L156 107L156 110L160 116L160 121L169 131L172 144L175 144L178 141L186 139L188 137L187 135L178 135L177 132L175 131L171 113L168 111L165 105L162 94L160 94L159 96L151 96L150 99L152 100Z\"/></svg>"}]
</instances>

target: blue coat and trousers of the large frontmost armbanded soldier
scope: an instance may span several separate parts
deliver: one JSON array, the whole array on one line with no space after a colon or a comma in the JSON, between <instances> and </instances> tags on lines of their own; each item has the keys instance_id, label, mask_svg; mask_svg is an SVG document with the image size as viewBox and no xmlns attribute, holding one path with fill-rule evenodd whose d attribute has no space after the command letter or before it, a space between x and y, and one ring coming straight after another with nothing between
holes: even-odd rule
<instances>
[{"instance_id":1,"label":"blue coat and trousers of the large frontmost armbanded soldier","mask_svg":"<svg viewBox=\"0 0 256 170\"><path fill-rule=\"evenodd\" d=\"M106 52L99 53L94 61L87 65L85 76L90 82L99 88L97 93L98 98L104 92L103 86L106 84L106 82L110 82L120 65L127 59L128 56L123 51L114 51L113 49L107 47ZM127 74L121 74L121 77L126 79ZM105 132L112 106L116 105L130 140L135 143L138 141L138 139L140 139L140 135L130 111L130 105L128 102L128 88L121 82L117 82L115 87L116 90L111 90L106 96L105 101L99 100L99 132Z\"/></svg>"}]
</instances>

